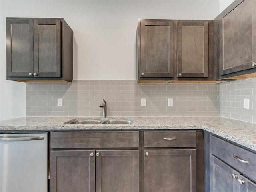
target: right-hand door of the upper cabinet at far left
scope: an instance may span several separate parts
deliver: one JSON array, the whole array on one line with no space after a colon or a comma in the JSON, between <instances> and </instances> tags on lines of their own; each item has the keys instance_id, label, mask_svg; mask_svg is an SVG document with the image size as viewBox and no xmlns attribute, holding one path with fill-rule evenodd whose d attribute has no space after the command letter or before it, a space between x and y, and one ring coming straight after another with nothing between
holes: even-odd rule
<instances>
[{"instance_id":1,"label":"right-hand door of the upper cabinet at far left","mask_svg":"<svg viewBox=\"0 0 256 192\"><path fill-rule=\"evenodd\" d=\"M36 77L60 77L60 20L34 20L34 73Z\"/></svg>"}]
</instances>

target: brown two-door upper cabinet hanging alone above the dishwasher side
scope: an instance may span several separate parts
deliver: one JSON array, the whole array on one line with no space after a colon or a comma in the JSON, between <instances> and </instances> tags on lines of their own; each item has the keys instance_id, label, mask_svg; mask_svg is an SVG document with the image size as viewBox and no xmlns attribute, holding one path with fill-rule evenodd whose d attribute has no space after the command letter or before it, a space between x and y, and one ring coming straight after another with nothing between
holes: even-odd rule
<instances>
[{"instance_id":1,"label":"brown two-door upper cabinet hanging alone above the dishwasher side","mask_svg":"<svg viewBox=\"0 0 256 192\"><path fill-rule=\"evenodd\" d=\"M7 18L7 80L72 82L73 31L62 18Z\"/></svg>"}]
</instances>

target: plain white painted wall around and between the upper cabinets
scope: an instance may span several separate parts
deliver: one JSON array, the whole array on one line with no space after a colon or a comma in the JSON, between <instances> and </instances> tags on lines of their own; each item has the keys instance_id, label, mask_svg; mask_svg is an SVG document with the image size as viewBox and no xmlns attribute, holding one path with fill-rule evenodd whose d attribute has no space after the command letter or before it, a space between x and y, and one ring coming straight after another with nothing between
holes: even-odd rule
<instances>
[{"instance_id":1,"label":"plain white painted wall around and between the upper cabinets","mask_svg":"<svg viewBox=\"0 0 256 192\"><path fill-rule=\"evenodd\" d=\"M25 84L6 80L6 17L64 18L74 80L135 80L138 18L214 19L219 0L0 0L0 120L25 116Z\"/></svg>"}]
</instances>

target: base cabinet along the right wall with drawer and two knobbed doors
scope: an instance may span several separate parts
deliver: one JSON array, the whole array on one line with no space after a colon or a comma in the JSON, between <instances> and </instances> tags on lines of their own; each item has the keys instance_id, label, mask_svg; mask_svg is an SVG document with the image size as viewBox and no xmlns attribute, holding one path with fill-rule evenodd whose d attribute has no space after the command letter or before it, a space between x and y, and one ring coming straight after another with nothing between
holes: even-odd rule
<instances>
[{"instance_id":1,"label":"base cabinet along the right wall with drawer and two knobbed doors","mask_svg":"<svg viewBox=\"0 0 256 192\"><path fill-rule=\"evenodd\" d=\"M256 192L256 155L212 135L210 146L210 192Z\"/></svg>"}]
</instances>

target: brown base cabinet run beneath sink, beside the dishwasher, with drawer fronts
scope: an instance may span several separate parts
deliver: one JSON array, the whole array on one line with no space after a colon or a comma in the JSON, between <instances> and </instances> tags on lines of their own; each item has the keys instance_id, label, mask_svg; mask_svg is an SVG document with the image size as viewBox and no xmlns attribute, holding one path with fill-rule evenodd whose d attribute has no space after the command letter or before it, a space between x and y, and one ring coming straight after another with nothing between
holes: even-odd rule
<instances>
[{"instance_id":1,"label":"brown base cabinet run beneath sink, beside the dishwasher, with drawer fronts","mask_svg":"<svg viewBox=\"0 0 256 192\"><path fill-rule=\"evenodd\" d=\"M203 192L201 134L50 132L50 192Z\"/></svg>"}]
</instances>

